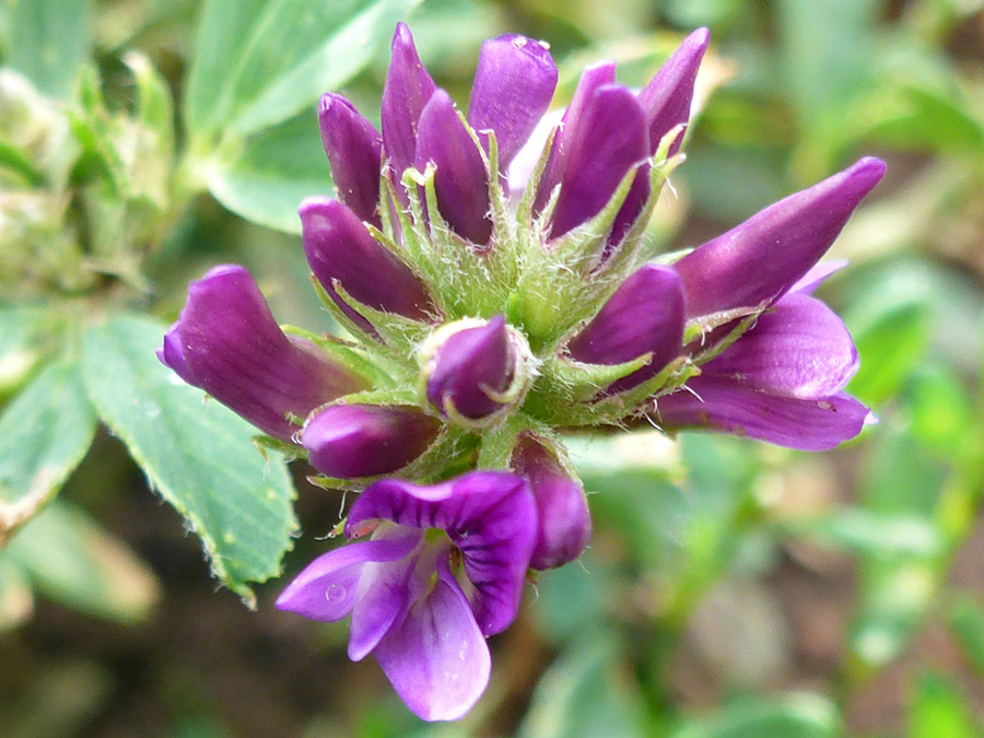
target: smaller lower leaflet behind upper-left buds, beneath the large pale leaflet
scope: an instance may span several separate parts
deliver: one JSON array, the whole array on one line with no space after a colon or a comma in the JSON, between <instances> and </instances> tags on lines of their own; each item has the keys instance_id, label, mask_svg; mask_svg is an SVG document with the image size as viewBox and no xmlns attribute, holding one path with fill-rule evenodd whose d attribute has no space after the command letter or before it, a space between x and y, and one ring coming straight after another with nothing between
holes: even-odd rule
<instances>
[{"instance_id":1,"label":"smaller lower leaflet behind upper-left buds, beneath the large pale leaflet","mask_svg":"<svg viewBox=\"0 0 984 738\"><path fill-rule=\"evenodd\" d=\"M210 165L206 181L215 199L237 215L301 233L301 200L332 191L315 114L253 137L235 155Z\"/></svg>"}]
</instances>

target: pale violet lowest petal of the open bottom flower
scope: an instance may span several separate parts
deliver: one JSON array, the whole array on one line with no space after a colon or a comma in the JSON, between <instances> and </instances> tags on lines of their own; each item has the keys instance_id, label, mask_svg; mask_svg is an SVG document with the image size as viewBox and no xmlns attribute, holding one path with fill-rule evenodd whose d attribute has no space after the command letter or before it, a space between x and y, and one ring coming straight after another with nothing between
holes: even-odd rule
<instances>
[{"instance_id":1,"label":"pale violet lowest petal of the open bottom flower","mask_svg":"<svg viewBox=\"0 0 984 738\"><path fill-rule=\"evenodd\" d=\"M492 667L485 639L446 565L375 656L400 699L425 721L464 716L485 691Z\"/></svg>"}]
</instances>

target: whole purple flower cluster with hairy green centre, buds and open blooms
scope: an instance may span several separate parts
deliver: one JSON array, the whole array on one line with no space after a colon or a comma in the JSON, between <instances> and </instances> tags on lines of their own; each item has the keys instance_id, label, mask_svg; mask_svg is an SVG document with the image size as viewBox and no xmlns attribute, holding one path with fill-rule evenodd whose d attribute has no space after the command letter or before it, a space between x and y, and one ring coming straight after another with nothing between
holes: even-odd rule
<instances>
[{"instance_id":1,"label":"whole purple flower cluster with hairy green centre, buds and open blooms","mask_svg":"<svg viewBox=\"0 0 984 738\"><path fill-rule=\"evenodd\" d=\"M344 97L318 118L338 199L301 206L325 307L351 340L283 332L241 267L191 285L161 360L361 494L278 607L351 614L407 705L454 719L489 678L485 637L526 573L590 538L560 430L734 433L793 448L857 435L857 352L811 290L882 162L863 159L673 260L644 229L675 166L707 32L637 94L557 68L523 36L482 46L467 115L397 27L382 132Z\"/></svg>"}]
</instances>

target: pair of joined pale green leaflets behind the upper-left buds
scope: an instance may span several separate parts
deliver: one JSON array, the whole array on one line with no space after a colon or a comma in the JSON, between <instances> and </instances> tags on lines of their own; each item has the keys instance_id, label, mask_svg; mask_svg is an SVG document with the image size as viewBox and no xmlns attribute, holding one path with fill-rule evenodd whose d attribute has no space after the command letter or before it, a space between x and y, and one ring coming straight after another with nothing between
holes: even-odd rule
<instances>
[{"instance_id":1,"label":"pair of joined pale green leaflets behind the upper-left buds","mask_svg":"<svg viewBox=\"0 0 984 738\"><path fill-rule=\"evenodd\" d=\"M361 72L419 2L206 2L185 108L191 186L298 233L300 201L331 192L315 103Z\"/></svg>"}]
</instances>

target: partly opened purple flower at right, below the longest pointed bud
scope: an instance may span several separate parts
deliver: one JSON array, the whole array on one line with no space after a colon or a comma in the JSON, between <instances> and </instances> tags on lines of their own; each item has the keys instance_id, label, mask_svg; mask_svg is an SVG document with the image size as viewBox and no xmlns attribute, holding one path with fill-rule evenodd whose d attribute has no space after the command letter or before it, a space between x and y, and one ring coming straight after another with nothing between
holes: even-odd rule
<instances>
[{"instance_id":1,"label":"partly opened purple flower at right, below the longest pointed bud","mask_svg":"<svg viewBox=\"0 0 984 738\"><path fill-rule=\"evenodd\" d=\"M860 433L870 412L843 391L859 364L854 341L833 311L805 294L822 278L804 280L683 390L659 398L664 427L705 427L803 450L827 450Z\"/></svg>"}]
</instances>

